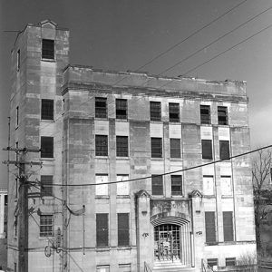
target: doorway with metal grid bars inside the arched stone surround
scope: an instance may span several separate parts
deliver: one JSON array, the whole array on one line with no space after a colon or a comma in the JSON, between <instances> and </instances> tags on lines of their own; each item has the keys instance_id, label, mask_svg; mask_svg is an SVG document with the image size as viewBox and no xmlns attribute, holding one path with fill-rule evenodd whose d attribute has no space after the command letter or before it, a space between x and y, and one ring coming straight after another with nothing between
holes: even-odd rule
<instances>
[{"instance_id":1,"label":"doorway with metal grid bars inside the arched stone surround","mask_svg":"<svg viewBox=\"0 0 272 272\"><path fill-rule=\"evenodd\" d=\"M180 260L180 226L163 224L154 228L155 260Z\"/></svg>"}]
</instances>

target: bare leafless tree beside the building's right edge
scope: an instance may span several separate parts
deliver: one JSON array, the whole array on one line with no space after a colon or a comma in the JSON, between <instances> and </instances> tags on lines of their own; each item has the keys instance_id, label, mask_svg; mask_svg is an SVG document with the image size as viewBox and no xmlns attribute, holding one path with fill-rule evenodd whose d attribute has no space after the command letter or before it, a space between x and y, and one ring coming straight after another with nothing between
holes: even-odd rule
<instances>
[{"instance_id":1,"label":"bare leafless tree beside the building's right edge","mask_svg":"<svg viewBox=\"0 0 272 272\"><path fill-rule=\"evenodd\" d=\"M271 150L257 151L257 155L252 161L252 181L254 189L254 206L255 206L255 224L256 224L256 241L257 248L261 248L260 225L266 219L270 209L267 209L267 198L264 192L267 191L269 183L269 174L272 166ZM271 192L272 193L272 192Z\"/></svg>"}]
</instances>

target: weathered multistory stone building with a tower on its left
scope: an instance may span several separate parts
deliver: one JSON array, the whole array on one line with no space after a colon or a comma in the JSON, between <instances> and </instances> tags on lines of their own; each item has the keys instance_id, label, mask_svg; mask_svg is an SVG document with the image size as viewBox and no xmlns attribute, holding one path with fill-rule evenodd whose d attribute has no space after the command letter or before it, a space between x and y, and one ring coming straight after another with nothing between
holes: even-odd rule
<instances>
[{"instance_id":1,"label":"weathered multistory stone building with a tower on its left","mask_svg":"<svg viewBox=\"0 0 272 272\"><path fill-rule=\"evenodd\" d=\"M246 83L70 65L51 21L12 59L11 145L43 166L9 177L10 269L228 270L256 253L249 157L229 159L250 149Z\"/></svg>"}]
</instances>

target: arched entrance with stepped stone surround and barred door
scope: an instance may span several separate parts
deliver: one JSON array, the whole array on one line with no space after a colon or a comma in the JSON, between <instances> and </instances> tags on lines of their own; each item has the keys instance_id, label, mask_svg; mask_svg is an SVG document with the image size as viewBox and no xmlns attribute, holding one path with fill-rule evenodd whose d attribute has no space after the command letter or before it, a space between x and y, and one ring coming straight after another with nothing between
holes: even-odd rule
<instances>
[{"instance_id":1,"label":"arched entrance with stepped stone surround and barred door","mask_svg":"<svg viewBox=\"0 0 272 272\"><path fill-rule=\"evenodd\" d=\"M165 217L151 222L154 227L154 261L175 261L191 267L191 231L187 219Z\"/></svg>"}]
</instances>

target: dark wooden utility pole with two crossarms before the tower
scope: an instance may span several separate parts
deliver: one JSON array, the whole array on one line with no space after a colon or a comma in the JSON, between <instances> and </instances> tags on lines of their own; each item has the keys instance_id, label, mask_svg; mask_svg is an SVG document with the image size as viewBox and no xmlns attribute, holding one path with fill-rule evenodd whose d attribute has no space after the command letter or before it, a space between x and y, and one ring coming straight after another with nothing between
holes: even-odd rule
<instances>
[{"instance_id":1,"label":"dark wooden utility pole with two crossarms before the tower","mask_svg":"<svg viewBox=\"0 0 272 272\"><path fill-rule=\"evenodd\" d=\"M19 169L19 188L18 188L18 272L28 272L28 188L30 183L25 172L25 165L40 165L40 161L26 161L25 155L28 152L40 152L40 149L19 149L7 147L3 151L15 151L16 160L5 160L3 163L14 164ZM17 158L19 157L19 160Z\"/></svg>"}]
</instances>

